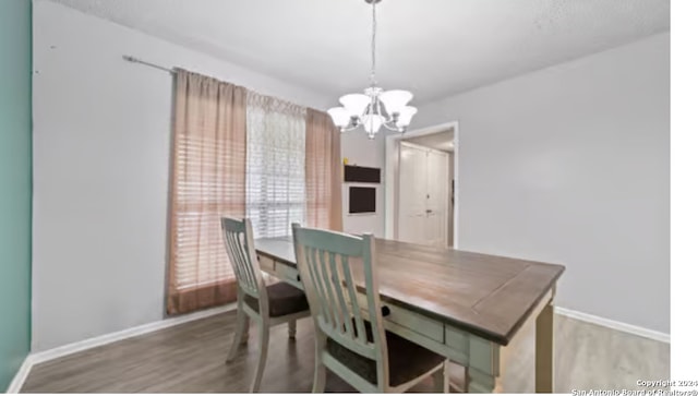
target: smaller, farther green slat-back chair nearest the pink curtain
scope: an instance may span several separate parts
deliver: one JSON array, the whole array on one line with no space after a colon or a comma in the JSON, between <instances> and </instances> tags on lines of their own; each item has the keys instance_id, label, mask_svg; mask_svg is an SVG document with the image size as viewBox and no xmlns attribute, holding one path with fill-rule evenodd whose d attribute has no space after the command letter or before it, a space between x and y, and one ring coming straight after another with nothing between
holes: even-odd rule
<instances>
[{"instance_id":1,"label":"smaller, farther green slat-back chair nearest the pink curtain","mask_svg":"<svg viewBox=\"0 0 698 396\"><path fill-rule=\"evenodd\" d=\"M260 361L250 392L257 392L266 364L269 327L288 323L290 338L296 337L296 321L309 316L305 293L296 287L278 283L266 286L254 249L252 225L249 219L222 217L222 236L228 259L238 280L238 322L227 361L234 359L244 343L249 317L260 326Z\"/></svg>"}]
</instances>

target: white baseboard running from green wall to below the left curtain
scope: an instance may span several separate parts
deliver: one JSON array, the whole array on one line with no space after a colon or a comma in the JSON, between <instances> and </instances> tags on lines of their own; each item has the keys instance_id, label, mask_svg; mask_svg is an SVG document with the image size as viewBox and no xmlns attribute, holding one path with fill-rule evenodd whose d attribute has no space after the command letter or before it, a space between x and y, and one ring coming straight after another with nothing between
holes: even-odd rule
<instances>
[{"instance_id":1,"label":"white baseboard running from green wall to below the left curtain","mask_svg":"<svg viewBox=\"0 0 698 396\"><path fill-rule=\"evenodd\" d=\"M29 356L27 356L26 359L24 359L24 363L22 363L22 367L20 368L16 375L12 380L12 383L10 383L8 393L20 393L20 389L22 388L22 385L24 385L24 381L26 380L34 364L62 358L68 355L72 355L86 349L99 347L103 345L120 341L122 339L140 336L147 333L157 332L163 328L177 326L182 323L192 322L200 319L217 315L219 313L232 311L237 308L238 308L238 303L233 302L231 304L216 307L205 311L198 311L198 312L193 312L193 313L181 315L181 316L169 317L161 321L147 323L141 326L127 328L120 332L105 334L98 337L84 339L82 341L63 345L58 348L52 348L52 349L44 350L36 353L29 353Z\"/></svg>"}]
</instances>

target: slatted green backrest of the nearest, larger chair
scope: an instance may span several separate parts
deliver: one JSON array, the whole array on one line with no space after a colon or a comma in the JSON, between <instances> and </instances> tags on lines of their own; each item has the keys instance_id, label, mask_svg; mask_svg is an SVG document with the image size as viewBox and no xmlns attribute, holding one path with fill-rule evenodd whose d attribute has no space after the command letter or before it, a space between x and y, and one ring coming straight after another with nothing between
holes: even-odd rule
<instances>
[{"instance_id":1,"label":"slatted green backrest of the nearest, larger chair","mask_svg":"<svg viewBox=\"0 0 698 396\"><path fill-rule=\"evenodd\" d=\"M293 224L296 261L316 329L345 348L376 361L378 386L387 384L388 362L372 235L354 237ZM363 273L365 289L354 274ZM369 329L359 299L365 296Z\"/></svg>"}]
</instances>

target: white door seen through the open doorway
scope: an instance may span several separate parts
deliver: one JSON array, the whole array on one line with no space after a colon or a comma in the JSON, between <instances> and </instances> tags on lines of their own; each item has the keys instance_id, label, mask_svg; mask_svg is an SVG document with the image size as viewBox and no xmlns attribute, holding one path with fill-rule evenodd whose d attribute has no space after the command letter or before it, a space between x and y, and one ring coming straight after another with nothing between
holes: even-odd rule
<instances>
[{"instance_id":1,"label":"white door seen through the open doorway","mask_svg":"<svg viewBox=\"0 0 698 396\"><path fill-rule=\"evenodd\" d=\"M446 247L448 155L400 143L397 238Z\"/></svg>"}]
</instances>

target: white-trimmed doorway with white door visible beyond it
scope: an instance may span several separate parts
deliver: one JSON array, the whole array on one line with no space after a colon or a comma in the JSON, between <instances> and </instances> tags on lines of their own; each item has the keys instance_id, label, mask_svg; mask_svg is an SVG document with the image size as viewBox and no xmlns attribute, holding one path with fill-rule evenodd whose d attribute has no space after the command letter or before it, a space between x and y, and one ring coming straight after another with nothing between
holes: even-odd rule
<instances>
[{"instance_id":1,"label":"white-trimmed doorway with white door visible beyond it","mask_svg":"<svg viewBox=\"0 0 698 396\"><path fill-rule=\"evenodd\" d=\"M386 238L458 245L458 124L386 137Z\"/></svg>"}]
</instances>

